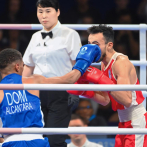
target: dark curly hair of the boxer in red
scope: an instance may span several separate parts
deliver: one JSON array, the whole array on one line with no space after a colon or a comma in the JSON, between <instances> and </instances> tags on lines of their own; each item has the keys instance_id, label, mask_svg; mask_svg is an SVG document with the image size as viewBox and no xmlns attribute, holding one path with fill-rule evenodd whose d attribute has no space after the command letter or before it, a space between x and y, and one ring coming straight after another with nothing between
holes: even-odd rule
<instances>
[{"instance_id":1,"label":"dark curly hair of the boxer in red","mask_svg":"<svg viewBox=\"0 0 147 147\"><path fill-rule=\"evenodd\" d=\"M88 29L89 34L103 33L105 37L105 43L114 42L114 31L113 28L105 24L99 26L92 26Z\"/></svg>"}]
</instances>

